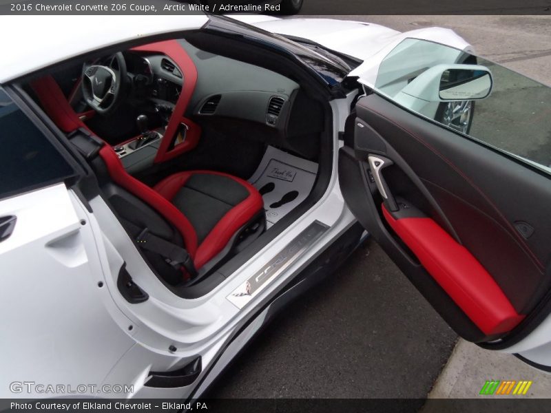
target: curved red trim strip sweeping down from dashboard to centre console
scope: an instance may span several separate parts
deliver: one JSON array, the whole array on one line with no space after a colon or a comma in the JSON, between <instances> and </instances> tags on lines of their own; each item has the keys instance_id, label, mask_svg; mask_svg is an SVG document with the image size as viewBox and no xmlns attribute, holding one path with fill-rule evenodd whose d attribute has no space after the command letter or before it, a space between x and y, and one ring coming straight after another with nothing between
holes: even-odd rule
<instances>
[{"instance_id":1,"label":"curved red trim strip sweeping down from dashboard to centre console","mask_svg":"<svg viewBox=\"0 0 551 413\"><path fill-rule=\"evenodd\" d=\"M193 149L198 142L199 136L201 134L200 128L195 123L187 120L186 123L189 126L189 131L187 131L187 138L189 139L189 144L186 145L186 142L172 147L172 142L176 138L176 132L178 131L178 125L180 121L184 118L185 110L189 105L191 96L194 94L195 86L197 84L197 68L195 67L194 61L187 55L183 47L176 40L167 40L160 41L157 43L150 43L148 45L142 45L134 47L132 50L137 50L140 52L157 52L163 53L166 56L169 56L176 65L180 67L180 70L183 72L183 85L182 92L180 97L176 102L174 111L170 117L169 123L167 125L167 130L163 136L163 140L160 142L160 147L155 156L155 162L163 162L174 158L175 156L180 155L181 153L187 152L190 149ZM195 142L195 145L194 145Z\"/></svg>"}]
</instances>

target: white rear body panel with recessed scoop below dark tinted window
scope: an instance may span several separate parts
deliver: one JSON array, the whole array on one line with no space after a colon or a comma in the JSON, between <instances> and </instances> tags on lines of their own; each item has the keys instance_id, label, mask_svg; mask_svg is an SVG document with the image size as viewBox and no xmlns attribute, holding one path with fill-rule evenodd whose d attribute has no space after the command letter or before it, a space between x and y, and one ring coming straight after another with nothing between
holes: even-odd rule
<instances>
[{"instance_id":1,"label":"white rear body panel with recessed scoop below dark tinted window","mask_svg":"<svg viewBox=\"0 0 551 413\"><path fill-rule=\"evenodd\" d=\"M80 202L57 184L2 200L4 215L17 224L0 243L0 302L10 315L2 321L10 337L0 352L0 396L48 396L12 393L12 381L100 385L134 340L117 325L132 322L114 317L107 289L98 288L101 259Z\"/></svg>"}]
</instances>

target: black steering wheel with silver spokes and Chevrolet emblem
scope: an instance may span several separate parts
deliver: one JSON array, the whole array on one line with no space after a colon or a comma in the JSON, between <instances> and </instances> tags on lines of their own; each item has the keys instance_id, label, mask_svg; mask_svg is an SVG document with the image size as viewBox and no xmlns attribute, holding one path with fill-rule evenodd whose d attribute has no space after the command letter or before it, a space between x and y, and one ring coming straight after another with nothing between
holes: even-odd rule
<instances>
[{"instance_id":1,"label":"black steering wheel with silver spokes and Chevrolet emblem","mask_svg":"<svg viewBox=\"0 0 551 413\"><path fill-rule=\"evenodd\" d=\"M128 78L121 52L103 61L107 65L83 65L81 87L86 103L98 114L108 115L121 103Z\"/></svg>"}]
</instances>

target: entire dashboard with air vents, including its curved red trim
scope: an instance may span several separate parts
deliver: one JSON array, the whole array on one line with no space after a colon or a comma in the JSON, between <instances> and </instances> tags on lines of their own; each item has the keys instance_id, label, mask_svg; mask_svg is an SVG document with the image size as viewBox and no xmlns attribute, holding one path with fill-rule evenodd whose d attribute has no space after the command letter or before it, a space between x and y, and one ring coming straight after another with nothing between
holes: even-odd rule
<instances>
[{"instance_id":1,"label":"entire dashboard with air vents, including its curved red trim","mask_svg":"<svg viewBox=\"0 0 551 413\"><path fill-rule=\"evenodd\" d=\"M201 50L184 39L123 54L132 83L129 99L160 115L162 135L176 137L162 140L155 162L193 149L205 128L305 156L315 153L304 149L312 146L304 137L318 133L322 120L312 116L315 105L290 78Z\"/></svg>"}]
</instances>

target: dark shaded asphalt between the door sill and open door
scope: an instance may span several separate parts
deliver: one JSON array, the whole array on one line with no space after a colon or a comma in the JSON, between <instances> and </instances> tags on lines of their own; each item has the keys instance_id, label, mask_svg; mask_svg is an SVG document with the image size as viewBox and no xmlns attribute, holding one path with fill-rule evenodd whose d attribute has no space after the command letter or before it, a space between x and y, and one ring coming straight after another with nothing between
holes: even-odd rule
<instances>
[{"instance_id":1,"label":"dark shaded asphalt between the door sill and open door","mask_svg":"<svg viewBox=\"0 0 551 413\"><path fill-rule=\"evenodd\" d=\"M375 242L284 310L207 398L424 398L457 336Z\"/></svg>"}]
</instances>

